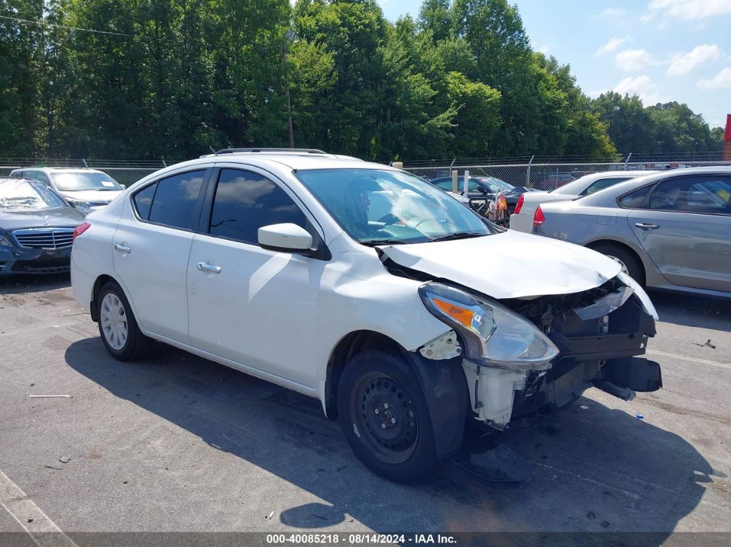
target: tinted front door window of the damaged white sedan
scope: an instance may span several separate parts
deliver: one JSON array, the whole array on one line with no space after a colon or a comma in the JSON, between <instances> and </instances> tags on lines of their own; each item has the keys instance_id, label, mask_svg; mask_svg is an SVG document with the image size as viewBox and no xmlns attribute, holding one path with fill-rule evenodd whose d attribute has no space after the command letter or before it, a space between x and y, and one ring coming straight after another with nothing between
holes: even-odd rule
<instances>
[{"instance_id":1,"label":"tinted front door window of the damaged white sedan","mask_svg":"<svg viewBox=\"0 0 731 547\"><path fill-rule=\"evenodd\" d=\"M281 223L303 228L307 223L304 213L284 190L256 173L221 170L211 211L211 235L256 245L262 226Z\"/></svg>"}]
</instances>

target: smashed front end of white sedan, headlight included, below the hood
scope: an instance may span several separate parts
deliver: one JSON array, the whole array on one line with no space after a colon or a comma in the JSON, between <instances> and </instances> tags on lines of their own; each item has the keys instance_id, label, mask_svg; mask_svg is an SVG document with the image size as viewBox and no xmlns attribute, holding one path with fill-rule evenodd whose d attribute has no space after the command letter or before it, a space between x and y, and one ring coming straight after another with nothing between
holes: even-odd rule
<instances>
[{"instance_id":1,"label":"smashed front end of white sedan, headlight included, below the hood","mask_svg":"<svg viewBox=\"0 0 731 547\"><path fill-rule=\"evenodd\" d=\"M624 274L544 297L493 301L434 282L420 293L453 329L420 348L422 355L461 355L471 408L496 429L567 405L592 386L625 400L662 387L659 364L637 357L655 334L654 307Z\"/></svg>"}]
</instances>

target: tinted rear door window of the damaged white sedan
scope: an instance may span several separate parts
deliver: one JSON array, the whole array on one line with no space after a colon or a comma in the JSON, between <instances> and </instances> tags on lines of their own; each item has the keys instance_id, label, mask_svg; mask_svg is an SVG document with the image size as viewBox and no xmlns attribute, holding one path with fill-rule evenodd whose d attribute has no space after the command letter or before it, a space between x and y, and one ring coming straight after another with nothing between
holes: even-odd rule
<instances>
[{"instance_id":1,"label":"tinted rear door window of the damaged white sedan","mask_svg":"<svg viewBox=\"0 0 731 547\"><path fill-rule=\"evenodd\" d=\"M193 171L159 180L150 209L150 222L191 229L204 175L205 171Z\"/></svg>"}]
</instances>

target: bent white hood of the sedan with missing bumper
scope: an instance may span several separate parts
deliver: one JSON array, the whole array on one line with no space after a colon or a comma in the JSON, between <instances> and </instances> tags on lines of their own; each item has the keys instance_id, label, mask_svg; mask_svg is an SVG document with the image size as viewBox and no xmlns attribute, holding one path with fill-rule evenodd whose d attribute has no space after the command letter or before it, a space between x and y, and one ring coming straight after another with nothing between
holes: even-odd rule
<instances>
[{"instance_id":1,"label":"bent white hood of the sedan with missing bumper","mask_svg":"<svg viewBox=\"0 0 731 547\"><path fill-rule=\"evenodd\" d=\"M496 299L588 291L621 270L594 250L512 230L466 240L384 245L381 250L396 264Z\"/></svg>"}]
</instances>

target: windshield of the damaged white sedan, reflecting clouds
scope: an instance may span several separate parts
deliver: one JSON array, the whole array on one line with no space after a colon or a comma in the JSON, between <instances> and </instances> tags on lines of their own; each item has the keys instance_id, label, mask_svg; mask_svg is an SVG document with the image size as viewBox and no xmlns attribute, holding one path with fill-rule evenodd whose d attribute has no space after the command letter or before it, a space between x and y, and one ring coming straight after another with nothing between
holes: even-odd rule
<instances>
[{"instance_id":1,"label":"windshield of the damaged white sedan, reflecting clouds","mask_svg":"<svg viewBox=\"0 0 731 547\"><path fill-rule=\"evenodd\" d=\"M404 172L313 169L297 176L340 226L366 245L494 233L469 207Z\"/></svg>"}]
</instances>

